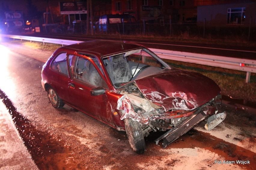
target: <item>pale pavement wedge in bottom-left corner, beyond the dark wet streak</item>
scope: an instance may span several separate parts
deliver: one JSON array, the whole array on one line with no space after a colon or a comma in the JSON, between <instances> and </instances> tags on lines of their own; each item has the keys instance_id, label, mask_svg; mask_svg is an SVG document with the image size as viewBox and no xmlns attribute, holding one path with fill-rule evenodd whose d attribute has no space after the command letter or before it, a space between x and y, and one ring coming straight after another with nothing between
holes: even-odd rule
<instances>
[{"instance_id":1,"label":"pale pavement wedge in bottom-left corner, beyond the dark wet streak","mask_svg":"<svg viewBox=\"0 0 256 170\"><path fill-rule=\"evenodd\" d=\"M10 112L3 103L6 98L2 98L2 91L0 95L0 169L36 170L38 168L23 144L24 138L21 138L17 132L16 127L19 127L14 125Z\"/></svg>"}]
</instances>

